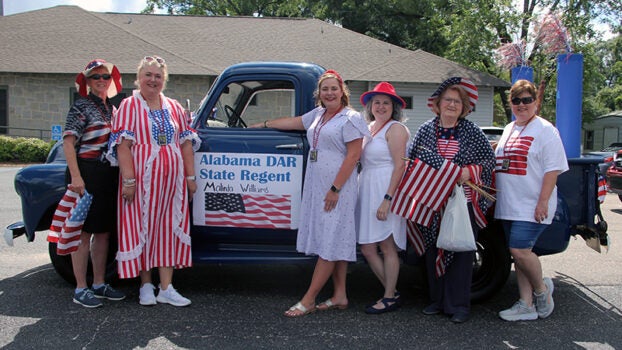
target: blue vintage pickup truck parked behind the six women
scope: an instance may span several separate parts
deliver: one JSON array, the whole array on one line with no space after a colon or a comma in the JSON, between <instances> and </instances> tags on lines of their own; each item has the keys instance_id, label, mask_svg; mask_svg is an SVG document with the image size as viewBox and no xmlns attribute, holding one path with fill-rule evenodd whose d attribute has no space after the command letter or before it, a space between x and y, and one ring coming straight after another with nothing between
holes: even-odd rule
<instances>
[{"instance_id":1,"label":"blue vintage pickup truck parked behind the six women","mask_svg":"<svg viewBox=\"0 0 622 350\"><path fill-rule=\"evenodd\" d=\"M199 190L192 209L195 263L303 263L313 258L295 250L296 228L309 145L304 132L246 128L268 118L302 115L314 107L320 66L294 62L251 62L225 69L193 113L202 145L195 154ZM7 228L9 238L28 241L47 230L64 186L62 147L45 164L20 170L15 189L23 222ZM589 246L607 245L607 224L597 199L598 159L570 159L558 180L559 203L553 224L537 243L538 254L560 253L571 235ZM259 204L258 204L259 203ZM270 211L261 203L281 203ZM472 298L492 296L506 282L511 257L501 225L490 223L478 238ZM47 233L44 233L44 235ZM40 237L45 239L45 236ZM107 276L115 275L111 249ZM56 271L73 280L71 259L49 253ZM411 252L408 263L417 262Z\"/></svg>"}]
</instances>

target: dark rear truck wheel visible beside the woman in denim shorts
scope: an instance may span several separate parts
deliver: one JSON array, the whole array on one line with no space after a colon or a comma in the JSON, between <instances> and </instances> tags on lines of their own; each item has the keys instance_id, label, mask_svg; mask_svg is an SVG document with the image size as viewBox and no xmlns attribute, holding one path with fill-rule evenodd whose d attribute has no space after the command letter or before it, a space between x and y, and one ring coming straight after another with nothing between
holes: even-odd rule
<instances>
[{"instance_id":1,"label":"dark rear truck wheel visible beside the woman in denim shorts","mask_svg":"<svg viewBox=\"0 0 622 350\"><path fill-rule=\"evenodd\" d=\"M500 222L493 221L478 234L471 281L471 302L482 302L497 293L505 285L511 265L503 227Z\"/></svg>"}]
</instances>

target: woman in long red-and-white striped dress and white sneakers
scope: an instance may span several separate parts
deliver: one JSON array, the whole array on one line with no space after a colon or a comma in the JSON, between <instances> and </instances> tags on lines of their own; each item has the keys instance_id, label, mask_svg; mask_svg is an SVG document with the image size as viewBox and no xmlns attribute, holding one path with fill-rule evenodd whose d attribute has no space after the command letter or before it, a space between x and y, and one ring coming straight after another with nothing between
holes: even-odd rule
<instances>
[{"instance_id":1,"label":"woman in long red-and-white striped dress and white sneakers","mask_svg":"<svg viewBox=\"0 0 622 350\"><path fill-rule=\"evenodd\" d=\"M189 201L196 191L194 150L200 140L183 107L164 96L164 59L140 61L132 96L121 102L113 122L109 159L119 165L120 278L140 276L141 305L186 306L172 285L173 269L192 265ZM151 281L158 268L159 293Z\"/></svg>"}]
</instances>

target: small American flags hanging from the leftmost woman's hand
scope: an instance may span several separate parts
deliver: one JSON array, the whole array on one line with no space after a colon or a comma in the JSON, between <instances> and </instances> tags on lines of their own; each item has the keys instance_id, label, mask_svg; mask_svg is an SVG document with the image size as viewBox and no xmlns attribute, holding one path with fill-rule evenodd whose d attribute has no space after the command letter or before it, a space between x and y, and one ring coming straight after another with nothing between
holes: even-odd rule
<instances>
[{"instance_id":1,"label":"small American flags hanging from the leftmost woman's hand","mask_svg":"<svg viewBox=\"0 0 622 350\"><path fill-rule=\"evenodd\" d=\"M84 225L84 220L86 220L92 201L93 195L86 191L84 191L84 195L80 197L78 193L67 190L58 203L58 207L52 219L52 226L50 227L52 232L57 233L56 254L67 255L78 250L82 226ZM48 235L48 241L52 240L53 237Z\"/></svg>"}]
</instances>

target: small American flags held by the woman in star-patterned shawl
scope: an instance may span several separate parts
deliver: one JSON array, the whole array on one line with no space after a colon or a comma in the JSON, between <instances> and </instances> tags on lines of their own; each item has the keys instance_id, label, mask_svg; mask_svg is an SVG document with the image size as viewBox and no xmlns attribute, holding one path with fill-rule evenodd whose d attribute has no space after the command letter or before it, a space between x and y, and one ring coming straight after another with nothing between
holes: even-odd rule
<instances>
[{"instance_id":1,"label":"small American flags held by the woman in star-patterned shawl","mask_svg":"<svg viewBox=\"0 0 622 350\"><path fill-rule=\"evenodd\" d=\"M420 225L430 226L434 213L449 198L460 172L460 166L439 155L415 159L397 188L391 211Z\"/></svg>"}]
</instances>

